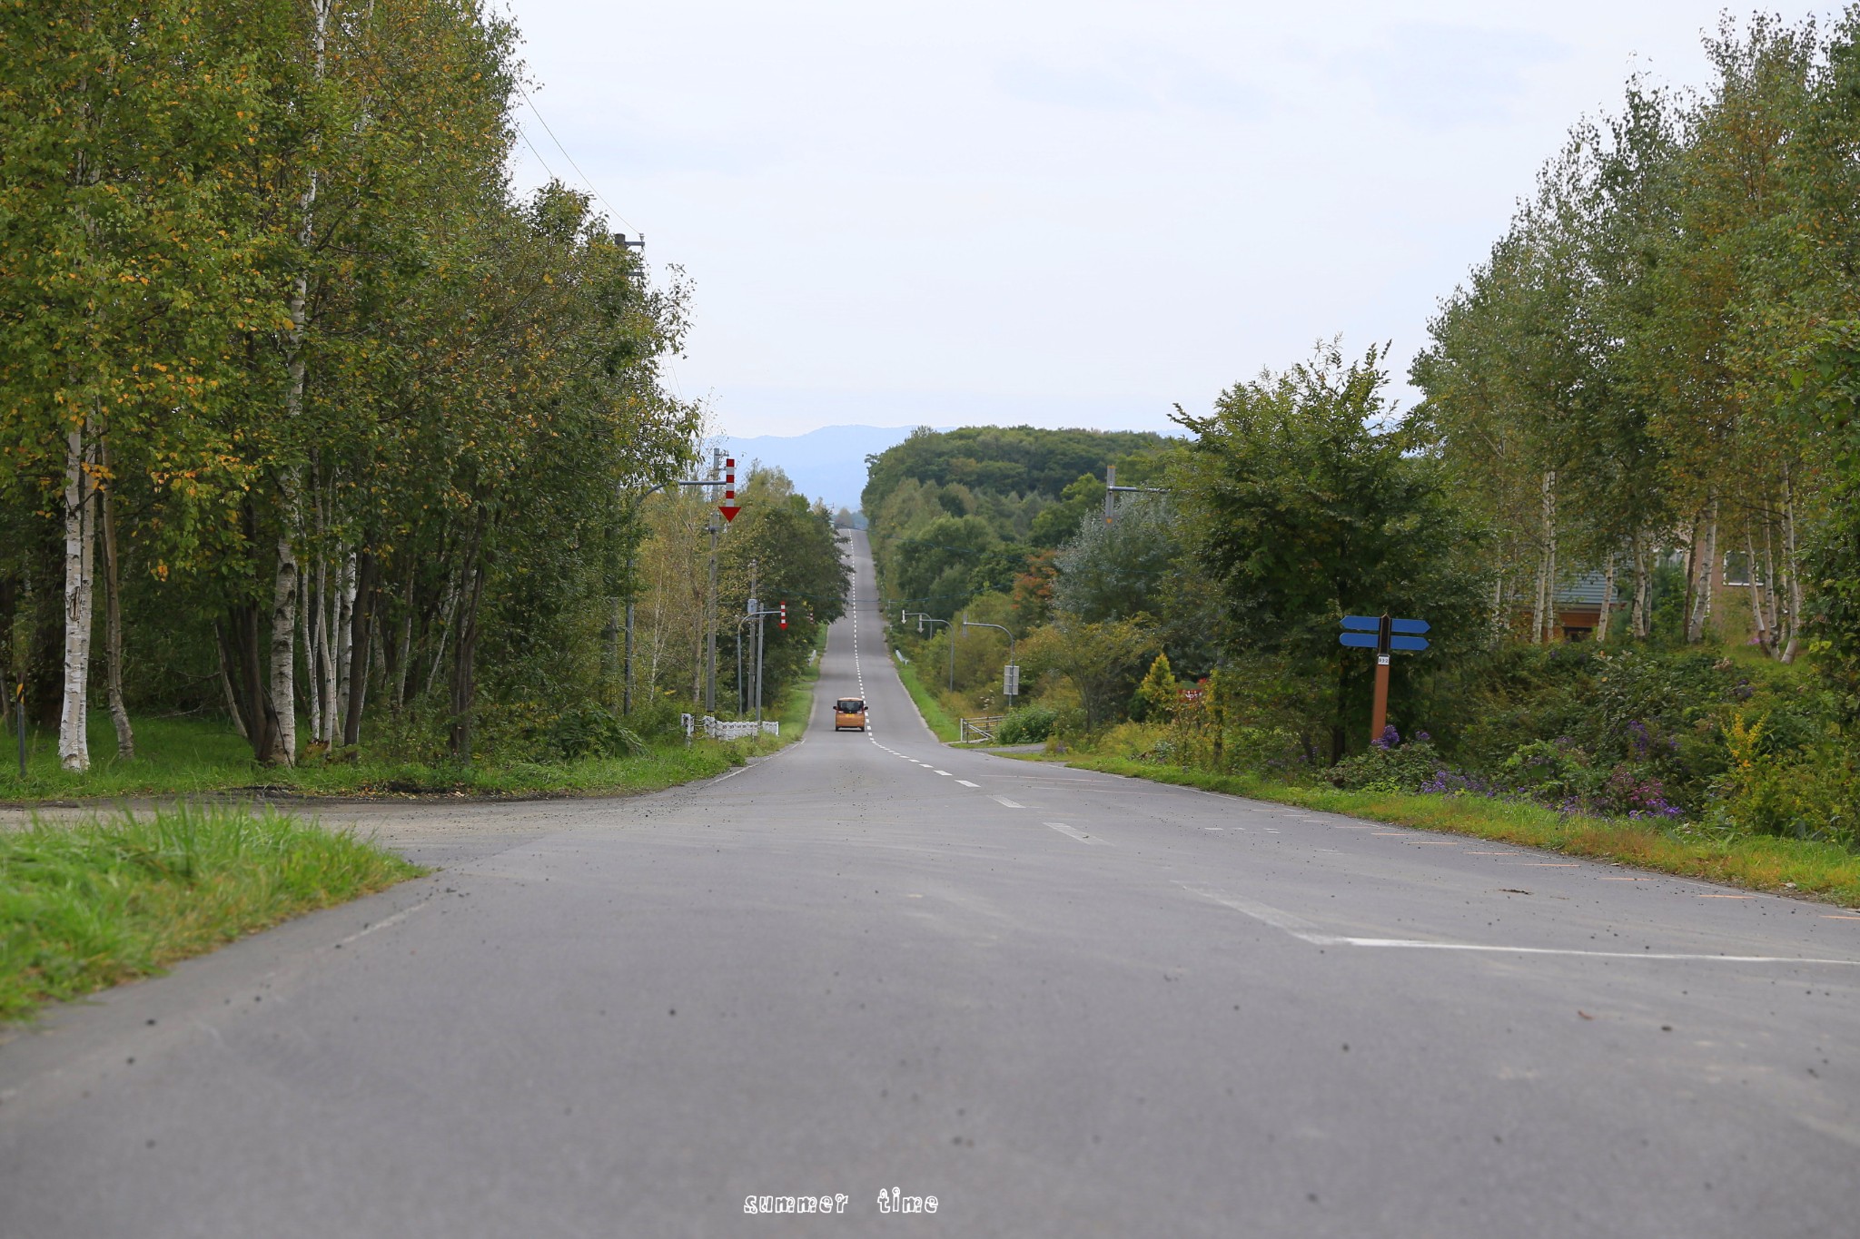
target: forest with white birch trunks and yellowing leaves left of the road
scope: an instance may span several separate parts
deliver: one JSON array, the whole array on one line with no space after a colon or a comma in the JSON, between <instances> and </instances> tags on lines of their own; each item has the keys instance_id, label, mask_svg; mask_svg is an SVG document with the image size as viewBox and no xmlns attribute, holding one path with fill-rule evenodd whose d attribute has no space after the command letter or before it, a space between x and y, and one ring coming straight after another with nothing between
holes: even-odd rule
<instances>
[{"instance_id":1,"label":"forest with white birch trunks and yellowing leaves left of the road","mask_svg":"<svg viewBox=\"0 0 1860 1239\"><path fill-rule=\"evenodd\" d=\"M99 706L112 762L138 715L266 765L539 752L627 702L629 600L640 702L701 698L714 496L645 498L698 461L688 288L512 191L515 41L459 0L0 6L0 658L63 769ZM722 587L764 544L830 619L826 513L746 496Z\"/></svg>"}]
</instances>

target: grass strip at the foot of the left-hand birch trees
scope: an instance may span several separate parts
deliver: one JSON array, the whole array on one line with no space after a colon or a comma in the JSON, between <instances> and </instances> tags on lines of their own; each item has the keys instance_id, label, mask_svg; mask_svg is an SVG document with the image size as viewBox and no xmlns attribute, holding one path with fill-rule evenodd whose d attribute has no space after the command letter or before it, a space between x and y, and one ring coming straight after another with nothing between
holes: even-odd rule
<instances>
[{"instance_id":1,"label":"grass strip at the foot of the left-hand birch trees","mask_svg":"<svg viewBox=\"0 0 1860 1239\"><path fill-rule=\"evenodd\" d=\"M115 730L106 713L91 715L91 769L73 773L58 765L58 737L28 734L26 778L15 763L17 734L0 734L0 801L74 801L87 797L160 797L216 791L264 791L270 795L629 795L722 775L753 756L772 752L800 737L813 704L809 672L789 687L770 715L781 737L763 736L718 743L671 737L655 741L642 756L580 758L575 762L498 762L472 765L402 762L366 752L353 760L305 762L296 767L262 767L251 747L223 721L140 719L136 760L115 756Z\"/></svg>"}]
</instances>

